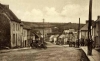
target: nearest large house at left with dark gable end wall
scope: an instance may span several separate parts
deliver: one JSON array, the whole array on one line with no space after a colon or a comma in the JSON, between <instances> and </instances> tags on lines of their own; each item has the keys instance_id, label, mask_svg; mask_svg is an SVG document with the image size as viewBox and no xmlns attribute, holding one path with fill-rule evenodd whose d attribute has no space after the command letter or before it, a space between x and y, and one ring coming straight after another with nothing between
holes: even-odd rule
<instances>
[{"instance_id":1,"label":"nearest large house at left with dark gable end wall","mask_svg":"<svg viewBox=\"0 0 100 61\"><path fill-rule=\"evenodd\" d=\"M8 5L0 4L0 46L18 47L20 43L20 23Z\"/></svg>"}]
</instances>

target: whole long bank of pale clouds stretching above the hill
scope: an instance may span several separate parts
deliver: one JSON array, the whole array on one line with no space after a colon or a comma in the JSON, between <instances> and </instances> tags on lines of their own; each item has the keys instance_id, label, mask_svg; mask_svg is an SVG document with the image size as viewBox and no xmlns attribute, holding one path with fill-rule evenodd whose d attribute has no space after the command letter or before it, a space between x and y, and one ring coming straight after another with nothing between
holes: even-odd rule
<instances>
[{"instance_id":1,"label":"whole long bank of pale clouds stretching above the hill","mask_svg":"<svg viewBox=\"0 0 100 61\"><path fill-rule=\"evenodd\" d=\"M42 22L75 22L78 23L78 18L81 17L81 22L84 23L88 16L88 8L81 7L77 4L68 4L63 7L61 12L58 12L55 7L44 7L41 9L32 9L30 11L15 10L16 15L22 21Z\"/></svg>"}]
</instances>

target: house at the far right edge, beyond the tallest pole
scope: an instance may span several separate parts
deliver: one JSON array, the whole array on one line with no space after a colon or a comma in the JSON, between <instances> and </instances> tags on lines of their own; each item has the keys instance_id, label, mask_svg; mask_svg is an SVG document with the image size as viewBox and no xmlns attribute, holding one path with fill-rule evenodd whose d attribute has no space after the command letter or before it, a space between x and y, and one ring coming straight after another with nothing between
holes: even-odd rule
<instances>
[{"instance_id":1,"label":"house at the far right edge, beyond the tallest pole","mask_svg":"<svg viewBox=\"0 0 100 61\"><path fill-rule=\"evenodd\" d=\"M95 47L100 47L100 16L98 16L97 20L93 24L92 27L92 38L94 40Z\"/></svg>"}]
</instances>

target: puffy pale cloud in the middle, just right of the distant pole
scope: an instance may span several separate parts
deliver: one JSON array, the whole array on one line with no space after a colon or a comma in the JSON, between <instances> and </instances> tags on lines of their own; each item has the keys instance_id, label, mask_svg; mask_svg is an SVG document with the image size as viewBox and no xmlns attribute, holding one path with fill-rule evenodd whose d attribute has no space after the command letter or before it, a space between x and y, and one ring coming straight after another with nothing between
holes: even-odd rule
<instances>
[{"instance_id":1,"label":"puffy pale cloud in the middle, just right of the distant pole","mask_svg":"<svg viewBox=\"0 0 100 61\"><path fill-rule=\"evenodd\" d=\"M54 7L45 7L44 8L44 18L46 22L61 22L62 18L60 13L57 12L56 8Z\"/></svg>"}]
</instances>

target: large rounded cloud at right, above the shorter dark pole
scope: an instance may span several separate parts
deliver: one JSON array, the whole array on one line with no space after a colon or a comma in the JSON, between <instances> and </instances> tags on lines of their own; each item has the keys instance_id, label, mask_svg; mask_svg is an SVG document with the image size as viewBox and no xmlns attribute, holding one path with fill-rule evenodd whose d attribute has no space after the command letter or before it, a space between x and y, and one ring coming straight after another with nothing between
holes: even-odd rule
<instances>
[{"instance_id":1,"label":"large rounded cloud at right, above the shorter dark pole","mask_svg":"<svg viewBox=\"0 0 100 61\"><path fill-rule=\"evenodd\" d=\"M65 17L66 21L75 23L77 23L79 21L78 18L81 17L81 22L84 23L87 19L87 10L87 7L82 7L78 4L68 4L63 7L63 10L61 11L61 16Z\"/></svg>"}]
</instances>

